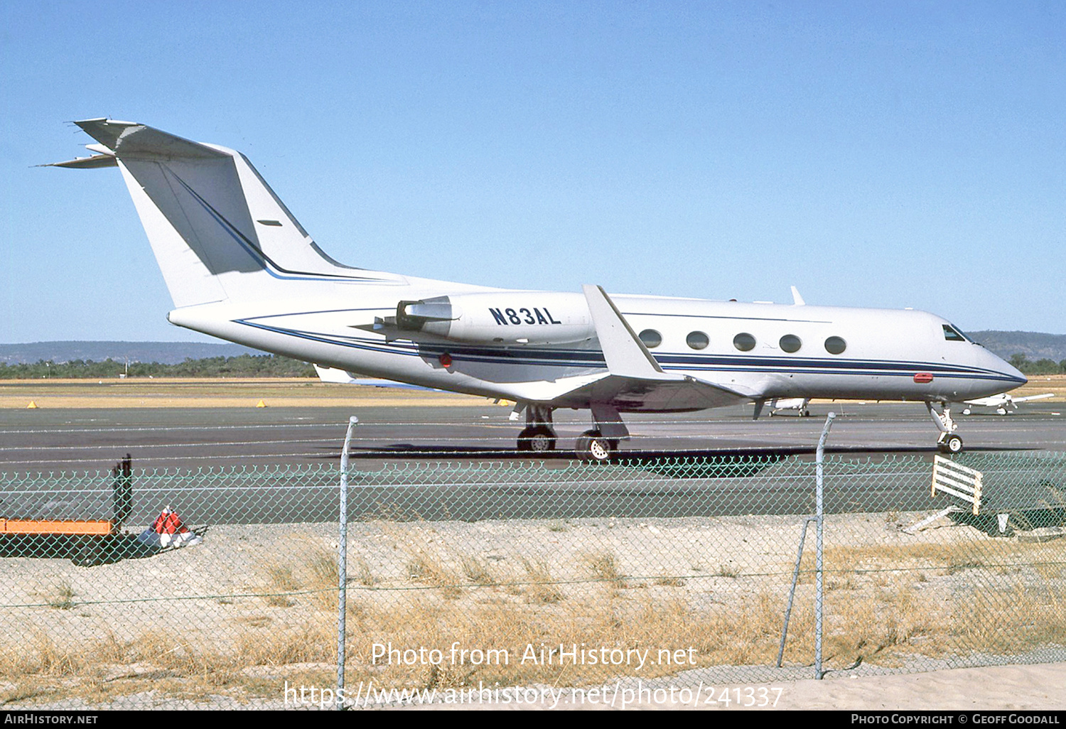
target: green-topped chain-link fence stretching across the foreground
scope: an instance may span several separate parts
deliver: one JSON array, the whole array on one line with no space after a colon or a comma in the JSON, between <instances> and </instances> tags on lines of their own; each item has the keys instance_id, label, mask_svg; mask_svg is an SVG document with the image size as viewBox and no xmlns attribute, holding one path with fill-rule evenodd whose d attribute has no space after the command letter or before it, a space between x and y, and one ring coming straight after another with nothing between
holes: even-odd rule
<instances>
[{"instance_id":1,"label":"green-topped chain-link fence stretching across the foreground","mask_svg":"<svg viewBox=\"0 0 1066 729\"><path fill-rule=\"evenodd\" d=\"M954 460L982 473L978 509L933 495L927 456L825 459L827 677L1066 660L1066 455ZM812 677L809 537L778 665L809 456L364 468L348 473L343 677L359 706ZM328 706L339 481L0 476L0 701Z\"/></svg>"}]
</instances>

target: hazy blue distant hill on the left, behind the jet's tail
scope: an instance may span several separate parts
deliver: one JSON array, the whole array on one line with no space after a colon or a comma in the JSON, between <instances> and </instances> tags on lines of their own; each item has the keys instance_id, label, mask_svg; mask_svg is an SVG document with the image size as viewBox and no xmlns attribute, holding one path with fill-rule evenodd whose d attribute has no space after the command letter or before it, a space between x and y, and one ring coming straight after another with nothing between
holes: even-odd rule
<instances>
[{"instance_id":1,"label":"hazy blue distant hill on the left, behind the jet's tail","mask_svg":"<svg viewBox=\"0 0 1066 729\"><path fill-rule=\"evenodd\" d=\"M199 342L30 342L27 344L0 344L0 362L5 365L32 365L33 362L70 362L76 359L102 362L161 362L178 365L185 359L207 357L239 357L243 354L262 354L240 344L212 344Z\"/></svg>"}]
</instances>

